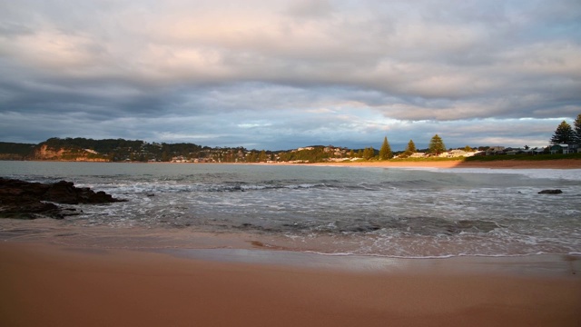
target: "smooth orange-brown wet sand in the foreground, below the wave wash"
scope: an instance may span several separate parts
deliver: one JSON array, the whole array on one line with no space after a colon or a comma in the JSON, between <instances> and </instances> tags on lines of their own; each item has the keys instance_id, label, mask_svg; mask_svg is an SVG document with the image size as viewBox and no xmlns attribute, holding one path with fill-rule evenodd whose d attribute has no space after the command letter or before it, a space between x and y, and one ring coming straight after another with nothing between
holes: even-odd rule
<instances>
[{"instance_id":1,"label":"smooth orange-brown wet sand in the foreground, below the wave wash","mask_svg":"<svg viewBox=\"0 0 581 327\"><path fill-rule=\"evenodd\" d=\"M0 325L581 325L578 257L534 269L524 259L455 258L349 270L268 253L278 260L2 242Z\"/></svg>"}]
</instances>

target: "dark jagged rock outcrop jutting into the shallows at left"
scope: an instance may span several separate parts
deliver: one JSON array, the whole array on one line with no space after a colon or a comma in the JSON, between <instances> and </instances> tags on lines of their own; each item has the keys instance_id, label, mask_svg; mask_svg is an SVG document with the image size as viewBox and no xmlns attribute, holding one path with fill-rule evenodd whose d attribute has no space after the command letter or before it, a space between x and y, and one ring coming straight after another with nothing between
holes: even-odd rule
<instances>
[{"instance_id":1,"label":"dark jagged rock outcrop jutting into the shallows at left","mask_svg":"<svg viewBox=\"0 0 581 327\"><path fill-rule=\"evenodd\" d=\"M88 187L75 187L74 183L31 183L0 177L0 218L34 219L39 216L64 218L75 214L54 203L115 203L115 199L103 191L94 192Z\"/></svg>"}]
</instances>

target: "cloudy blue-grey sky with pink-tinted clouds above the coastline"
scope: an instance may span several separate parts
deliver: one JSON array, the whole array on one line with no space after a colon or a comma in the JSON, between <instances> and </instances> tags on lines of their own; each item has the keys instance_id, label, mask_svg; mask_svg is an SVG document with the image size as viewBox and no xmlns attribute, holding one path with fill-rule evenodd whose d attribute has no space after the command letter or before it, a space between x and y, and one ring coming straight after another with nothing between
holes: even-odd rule
<instances>
[{"instance_id":1,"label":"cloudy blue-grey sky with pink-tinted clouds above the coastline","mask_svg":"<svg viewBox=\"0 0 581 327\"><path fill-rule=\"evenodd\" d=\"M0 0L0 141L544 146L581 1Z\"/></svg>"}]
</instances>

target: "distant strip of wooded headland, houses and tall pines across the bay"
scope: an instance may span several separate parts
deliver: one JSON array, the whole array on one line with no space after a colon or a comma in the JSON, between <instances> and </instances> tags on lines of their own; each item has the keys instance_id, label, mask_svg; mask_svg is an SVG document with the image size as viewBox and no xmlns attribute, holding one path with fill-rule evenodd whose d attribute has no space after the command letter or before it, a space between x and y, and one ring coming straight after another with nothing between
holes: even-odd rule
<instances>
[{"instance_id":1,"label":"distant strip of wooded headland, houses and tall pines across the bay","mask_svg":"<svg viewBox=\"0 0 581 327\"><path fill-rule=\"evenodd\" d=\"M310 145L291 150L249 150L239 147L209 147L198 144L148 143L142 140L50 138L40 144L0 142L0 160L46 160L141 163L349 163L360 161L458 159L480 156L538 156L581 154L581 114L573 126L563 121L546 146L503 145L448 148L435 134L428 148L418 149L409 140L405 150L392 151L385 136L379 149L349 149L334 145ZM547 157L548 159L548 157Z\"/></svg>"}]
</instances>

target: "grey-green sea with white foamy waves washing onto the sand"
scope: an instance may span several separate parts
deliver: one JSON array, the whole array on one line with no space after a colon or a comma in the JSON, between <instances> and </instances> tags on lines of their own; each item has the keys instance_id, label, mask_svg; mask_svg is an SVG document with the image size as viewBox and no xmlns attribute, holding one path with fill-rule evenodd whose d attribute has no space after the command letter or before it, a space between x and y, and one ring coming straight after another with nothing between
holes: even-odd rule
<instances>
[{"instance_id":1,"label":"grey-green sea with white foamy waves washing onto the sand","mask_svg":"<svg viewBox=\"0 0 581 327\"><path fill-rule=\"evenodd\" d=\"M0 240L197 248L200 235L304 253L402 258L581 253L581 170L0 162L124 203L64 220L0 220ZM561 194L539 194L544 189ZM66 205L64 205L66 206Z\"/></svg>"}]
</instances>

